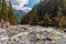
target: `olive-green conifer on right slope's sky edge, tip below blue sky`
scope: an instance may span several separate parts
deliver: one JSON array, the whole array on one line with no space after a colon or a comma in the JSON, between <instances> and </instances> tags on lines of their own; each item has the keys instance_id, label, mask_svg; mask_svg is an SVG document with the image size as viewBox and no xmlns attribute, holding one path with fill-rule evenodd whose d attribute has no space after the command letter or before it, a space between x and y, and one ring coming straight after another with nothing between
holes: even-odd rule
<instances>
[{"instance_id":1,"label":"olive-green conifer on right slope's sky edge, tip below blue sky","mask_svg":"<svg viewBox=\"0 0 66 44\"><path fill-rule=\"evenodd\" d=\"M31 11L31 23L32 24L36 24L38 22L38 19L37 19L37 6L34 6L32 11Z\"/></svg>"}]
</instances>

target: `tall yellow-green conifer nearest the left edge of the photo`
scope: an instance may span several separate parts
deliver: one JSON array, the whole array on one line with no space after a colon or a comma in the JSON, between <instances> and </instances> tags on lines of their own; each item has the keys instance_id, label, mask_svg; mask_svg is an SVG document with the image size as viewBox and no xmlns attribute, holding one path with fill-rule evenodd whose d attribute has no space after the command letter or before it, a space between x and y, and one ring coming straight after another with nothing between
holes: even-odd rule
<instances>
[{"instance_id":1,"label":"tall yellow-green conifer nearest the left edge of the photo","mask_svg":"<svg viewBox=\"0 0 66 44\"><path fill-rule=\"evenodd\" d=\"M9 12L9 8L7 6L7 2L6 0L2 0L1 19L8 20L8 12Z\"/></svg>"}]
</instances>

